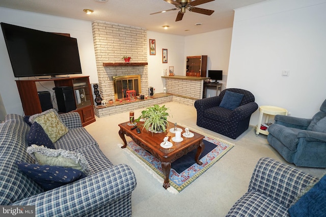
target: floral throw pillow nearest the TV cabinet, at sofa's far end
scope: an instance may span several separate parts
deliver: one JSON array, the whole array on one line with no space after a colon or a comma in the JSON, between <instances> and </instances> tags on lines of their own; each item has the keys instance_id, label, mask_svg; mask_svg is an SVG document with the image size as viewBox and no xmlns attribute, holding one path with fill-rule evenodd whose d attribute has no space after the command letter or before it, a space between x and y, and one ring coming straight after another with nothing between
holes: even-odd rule
<instances>
[{"instance_id":1,"label":"floral throw pillow nearest the TV cabinet, at sofa's far end","mask_svg":"<svg viewBox=\"0 0 326 217\"><path fill-rule=\"evenodd\" d=\"M39 123L53 143L68 133L68 128L59 119L55 109L49 109L40 114L34 114L29 120L31 123Z\"/></svg>"}]
</instances>

